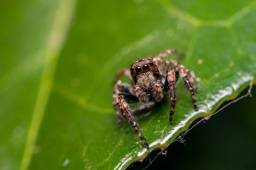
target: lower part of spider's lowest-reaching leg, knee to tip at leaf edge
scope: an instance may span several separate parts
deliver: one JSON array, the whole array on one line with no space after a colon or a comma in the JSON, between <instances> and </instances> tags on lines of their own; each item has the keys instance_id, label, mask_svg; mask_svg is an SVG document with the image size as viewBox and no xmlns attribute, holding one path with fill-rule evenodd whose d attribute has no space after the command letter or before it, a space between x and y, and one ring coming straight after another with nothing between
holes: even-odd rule
<instances>
[{"instance_id":1,"label":"lower part of spider's lowest-reaching leg, knee to tip at leaf edge","mask_svg":"<svg viewBox=\"0 0 256 170\"><path fill-rule=\"evenodd\" d=\"M123 94L119 95L119 97L118 97L118 106L119 106L119 109L122 112L122 115L125 117L125 119L128 120L130 125L134 128L135 132L138 134L138 136L143 141L145 146L147 148L149 148L148 142L146 141L146 139L142 135L142 133L141 133L141 131L140 131L138 125L137 125L137 122L136 122L136 120L134 119L134 116L131 113L131 109L130 109L128 103L125 100L125 96Z\"/></svg>"}]
</instances>

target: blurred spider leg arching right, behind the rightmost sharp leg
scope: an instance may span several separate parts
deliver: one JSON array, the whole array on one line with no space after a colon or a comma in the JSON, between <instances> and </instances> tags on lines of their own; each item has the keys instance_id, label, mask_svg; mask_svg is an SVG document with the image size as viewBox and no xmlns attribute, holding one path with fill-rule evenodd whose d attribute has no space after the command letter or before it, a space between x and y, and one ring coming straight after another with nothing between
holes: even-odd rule
<instances>
[{"instance_id":1,"label":"blurred spider leg arching right, behind the rightmost sharp leg","mask_svg":"<svg viewBox=\"0 0 256 170\"><path fill-rule=\"evenodd\" d=\"M169 59L169 60L167 60L167 61L166 61L166 65L168 65L168 66L175 66L176 68L177 68L177 67L182 68L182 69L186 72L187 77L188 77L188 79L189 79L189 82L190 82L190 84L192 85L192 87L194 88L194 90L195 90L197 93L199 93L199 90L198 90L198 88L195 86L195 84L194 84L194 79L193 79L193 78L196 77L196 76L195 76L195 72L190 71L190 70L187 69L184 65L181 65L180 62L178 62L178 61L176 61L176 60L174 60L174 59ZM196 79L198 79L198 78L196 78Z\"/></svg>"}]
</instances>

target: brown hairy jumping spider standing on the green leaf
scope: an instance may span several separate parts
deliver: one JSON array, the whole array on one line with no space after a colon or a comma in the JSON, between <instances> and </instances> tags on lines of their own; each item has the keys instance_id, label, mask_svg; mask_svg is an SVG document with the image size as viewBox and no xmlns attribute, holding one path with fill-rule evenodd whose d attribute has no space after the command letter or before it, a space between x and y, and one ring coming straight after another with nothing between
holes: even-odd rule
<instances>
[{"instance_id":1,"label":"brown hairy jumping spider standing on the green leaf","mask_svg":"<svg viewBox=\"0 0 256 170\"><path fill-rule=\"evenodd\" d=\"M145 103L149 101L160 102L163 99L163 92L169 90L171 102L169 123L172 124L172 116L176 102L175 82L180 74L186 88L191 94L194 108L198 111L193 90L195 89L195 91L198 92L193 81L193 78L195 77L194 72L189 71L189 69L181 65L176 60L169 59L166 60L166 62L163 61L163 58L173 53L180 56L182 55L182 53L178 52L175 48L170 48L156 57L146 57L135 61L131 64L130 70L122 69L116 74L116 79L125 75L133 83L133 86L131 86L126 82L118 80L114 85L113 106L118 118L116 123L121 127L121 116L118 110L119 107L122 115L128 120L147 148L149 148L148 142L145 140L137 126L137 122L131 113L128 103L138 101Z\"/></svg>"}]
</instances>

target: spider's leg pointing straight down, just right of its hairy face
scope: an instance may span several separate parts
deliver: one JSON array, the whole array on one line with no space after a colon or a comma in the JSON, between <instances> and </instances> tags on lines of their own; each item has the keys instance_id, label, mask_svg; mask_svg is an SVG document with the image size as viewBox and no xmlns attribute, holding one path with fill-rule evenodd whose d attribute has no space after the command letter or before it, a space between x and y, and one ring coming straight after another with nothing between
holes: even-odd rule
<instances>
[{"instance_id":1,"label":"spider's leg pointing straight down, just right of its hairy face","mask_svg":"<svg viewBox=\"0 0 256 170\"><path fill-rule=\"evenodd\" d=\"M169 85L169 90L170 90L170 102L171 102L171 111L170 111L170 117L169 117L169 123L172 124L172 116L174 113L174 108L175 108L175 103L176 103L176 73L174 68L167 68L167 82Z\"/></svg>"}]
</instances>

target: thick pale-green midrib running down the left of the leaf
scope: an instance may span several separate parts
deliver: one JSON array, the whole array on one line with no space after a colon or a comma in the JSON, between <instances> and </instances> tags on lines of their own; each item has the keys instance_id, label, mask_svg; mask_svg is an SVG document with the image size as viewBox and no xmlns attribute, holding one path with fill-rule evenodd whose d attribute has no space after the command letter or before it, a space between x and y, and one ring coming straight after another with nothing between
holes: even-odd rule
<instances>
[{"instance_id":1,"label":"thick pale-green midrib running down the left of the leaf","mask_svg":"<svg viewBox=\"0 0 256 170\"><path fill-rule=\"evenodd\" d=\"M20 170L27 170L32 159L32 153L40 130L44 112L47 107L50 93L52 91L53 79L58 64L60 51L64 45L68 28L76 0L59 0L56 13L53 18L52 28L49 31L49 38L44 51L45 65L41 76L41 83L32 113L32 121L26 139L25 150L20 165Z\"/></svg>"}]
</instances>

